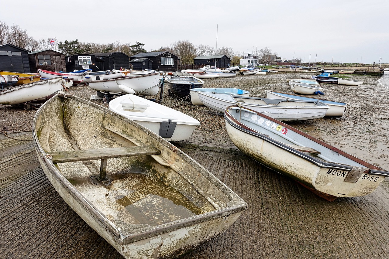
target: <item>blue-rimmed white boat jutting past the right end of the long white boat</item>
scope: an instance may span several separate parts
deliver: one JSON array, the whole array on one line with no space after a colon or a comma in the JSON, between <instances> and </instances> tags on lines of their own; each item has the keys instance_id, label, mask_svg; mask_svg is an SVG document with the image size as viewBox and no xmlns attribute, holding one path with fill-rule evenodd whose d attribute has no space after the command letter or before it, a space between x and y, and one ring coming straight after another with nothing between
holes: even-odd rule
<instances>
[{"instance_id":1,"label":"blue-rimmed white boat jutting past the right end of the long white boat","mask_svg":"<svg viewBox=\"0 0 389 259\"><path fill-rule=\"evenodd\" d=\"M269 90L265 90L265 91L266 91L267 98L272 98L272 99L321 101L322 103L325 103L326 105L329 106L325 116L342 117L347 108L347 103L343 103L340 101L321 100L321 99L316 99L311 97L300 96L297 94L280 93L280 92L269 91Z\"/></svg>"}]
</instances>

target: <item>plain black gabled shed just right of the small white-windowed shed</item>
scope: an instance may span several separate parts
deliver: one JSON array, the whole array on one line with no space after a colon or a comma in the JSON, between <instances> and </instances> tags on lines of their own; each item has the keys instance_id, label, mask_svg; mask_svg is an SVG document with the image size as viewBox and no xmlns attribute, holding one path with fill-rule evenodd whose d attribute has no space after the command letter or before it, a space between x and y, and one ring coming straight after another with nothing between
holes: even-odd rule
<instances>
[{"instance_id":1,"label":"plain black gabled shed just right of the small white-windowed shed","mask_svg":"<svg viewBox=\"0 0 389 259\"><path fill-rule=\"evenodd\" d=\"M91 55L95 55L96 58L101 59L101 61L96 59L96 67L100 71L130 68L130 57L126 53L116 51L107 53L91 53Z\"/></svg>"}]
</instances>

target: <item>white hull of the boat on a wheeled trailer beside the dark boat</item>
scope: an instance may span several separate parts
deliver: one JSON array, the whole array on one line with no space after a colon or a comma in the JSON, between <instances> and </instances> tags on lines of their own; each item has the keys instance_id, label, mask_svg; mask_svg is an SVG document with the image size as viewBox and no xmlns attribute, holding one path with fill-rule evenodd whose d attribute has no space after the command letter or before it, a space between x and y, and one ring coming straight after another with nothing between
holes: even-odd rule
<instances>
[{"instance_id":1,"label":"white hull of the boat on a wheeled trailer beside the dark boat","mask_svg":"<svg viewBox=\"0 0 389 259\"><path fill-rule=\"evenodd\" d=\"M123 92L123 89L121 89L119 85L129 87L138 94L155 95L159 91L159 73L138 75L136 77L89 81L89 87L91 89L102 93L121 93Z\"/></svg>"}]
</instances>

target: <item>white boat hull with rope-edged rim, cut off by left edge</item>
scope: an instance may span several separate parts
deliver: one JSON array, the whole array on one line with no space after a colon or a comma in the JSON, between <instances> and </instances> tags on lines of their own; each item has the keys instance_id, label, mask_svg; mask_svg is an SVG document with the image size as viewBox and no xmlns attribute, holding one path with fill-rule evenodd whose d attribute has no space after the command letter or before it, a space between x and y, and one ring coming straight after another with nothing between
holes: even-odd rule
<instances>
[{"instance_id":1,"label":"white boat hull with rope-edged rim, cut off by left edge","mask_svg":"<svg viewBox=\"0 0 389 259\"><path fill-rule=\"evenodd\" d=\"M44 102L47 96L62 91L64 84L61 77L56 77L8 88L0 92L0 104L18 105L35 100Z\"/></svg>"}]
</instances>

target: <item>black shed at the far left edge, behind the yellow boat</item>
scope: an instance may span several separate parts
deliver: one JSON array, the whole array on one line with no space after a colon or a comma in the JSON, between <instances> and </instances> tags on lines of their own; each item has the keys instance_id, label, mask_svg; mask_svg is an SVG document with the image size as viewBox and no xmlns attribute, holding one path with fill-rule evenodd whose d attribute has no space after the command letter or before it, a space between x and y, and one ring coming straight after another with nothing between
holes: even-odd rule
<instances>
[{"instance_id":1,"label":"black shed at the far left edge, behind the yellow boat","mask_svg":"<svg viewBox=\"0 0 389 259\"><path fill-rule=\"evenodd\" d=\"M28 52L28 50L12 44L0 46L0 70L31 73Z\"/></svg>"}]
</instances>

